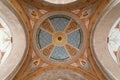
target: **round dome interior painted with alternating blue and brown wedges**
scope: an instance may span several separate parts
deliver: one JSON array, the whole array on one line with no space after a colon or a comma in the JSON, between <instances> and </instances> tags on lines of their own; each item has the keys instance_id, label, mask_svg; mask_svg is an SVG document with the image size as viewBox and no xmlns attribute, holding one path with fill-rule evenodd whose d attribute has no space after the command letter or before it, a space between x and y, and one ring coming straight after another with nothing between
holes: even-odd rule
<instances>
[{"instance_id":1,"label":"round dome interior painted with alternating blue and brown wedges","mask_svg":"<svg viewBox=\"0 0 120 80\"><path fill-rule=\"evenodd\" d=\"M37 44L48 60L65 62L79 53L83 32L75 20L65 15L55 15L41 23Z\"/></svg>"}]
</instances>

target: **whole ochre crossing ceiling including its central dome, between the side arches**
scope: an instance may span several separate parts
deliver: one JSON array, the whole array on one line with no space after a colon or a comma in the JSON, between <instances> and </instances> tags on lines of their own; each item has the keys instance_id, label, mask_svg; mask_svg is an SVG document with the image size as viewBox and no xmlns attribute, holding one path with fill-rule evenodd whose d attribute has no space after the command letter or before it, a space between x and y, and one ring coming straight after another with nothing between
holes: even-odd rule
<instances>
[{"instance_id":1,"label":"whole ochre crossing ceiling including its central dome, between the side arches","mask_svg":"<svg viewBox=\"0 0 120 80\"><path fill-rule=\"evenodd\" d=\"M14 79L39 80L52 70L64 69L83 76L76 76L76 80L106 80L91 55L89 40L93 22L103 10L100 5L104 8L108 2L79 0L57 5L40 0L13 1L14 6L19 4L16 9L29 24L30 35L29 55ZM61 73L56 78L44 79L70 80Z\"/></svg>"}]
</instances>

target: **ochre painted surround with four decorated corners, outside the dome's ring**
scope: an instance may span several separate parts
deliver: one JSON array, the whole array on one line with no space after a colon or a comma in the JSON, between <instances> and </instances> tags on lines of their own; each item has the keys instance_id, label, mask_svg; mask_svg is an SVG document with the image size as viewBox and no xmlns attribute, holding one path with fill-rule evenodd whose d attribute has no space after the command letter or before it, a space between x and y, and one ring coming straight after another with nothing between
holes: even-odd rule
<instances>
[{"instance_id":1,"label":"ochre painted surround with four decorated corners, outside the dome's ring","mask_svg":"<svg viewBox=\"0 0 120 80\"><path fill-rule=\"evenodd\" d=\"M86 0L81 3L74 3L75 5L66 5L63 7L55 5L47 5L43 3L38 3L36 0L10 0L12 5L15 7L16 11L19 13L27 29L29 30L30 36L30 47L29 54L24 61L23 66L14 77L13 80L34 80L35 77L39 76L45 71L55 70L55 69L69 69L80 73L82 76L88 80L107 80L103 73L97 66L90 50L90 34L94 23L99 17L100 13L103 12L110 0ZM79 59L75 60L73 63L68 64L49 64L43 61L36 53L33 44L33 30L37 21L44 15L54 11L66 11L74 14L79 18L83 27L86 29L86 47L81 53L82 55ZM49 23L48 26L51 26ZM72 24L71 24L72 25ZM44 27L45 28L45 27ZM44 29L43 28L43 29ZM70 27L68 27L70 28ZM76 26L75 29L78 29ZM54 30L50 28L48 30L50 33L54 33ZM66 30L66 32L69 32ZM64 37L64 34L61 34ZM55 36L56 39L56 36ZM58 44L57 42L55 42ZM64 44L64 43L63 43ZM69 52L70 46L65 45ZM52 47L52 45L51 45ZM46 51L45 49L44 51ZM49 55L49 54L48 54ZM70 54L74 55L74 54Z\"/></svg>"}]
</instances>

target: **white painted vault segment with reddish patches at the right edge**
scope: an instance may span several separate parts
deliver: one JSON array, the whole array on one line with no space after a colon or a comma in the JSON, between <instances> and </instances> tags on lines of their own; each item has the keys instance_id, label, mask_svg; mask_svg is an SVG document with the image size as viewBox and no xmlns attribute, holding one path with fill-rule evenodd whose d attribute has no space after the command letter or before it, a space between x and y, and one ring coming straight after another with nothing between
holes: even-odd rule
<instances>
[{"instance_id":1,"label":"white painted vault segment with reddish patches at the right edge","mask_svg":"<svg viewBox=\"0 0 120 80\"><path fill-rule=\"evenodd\" d=\"M108 36L108 49L117 64L120 64L120 18L110 30Z\"/></svg>"}]
</instances>

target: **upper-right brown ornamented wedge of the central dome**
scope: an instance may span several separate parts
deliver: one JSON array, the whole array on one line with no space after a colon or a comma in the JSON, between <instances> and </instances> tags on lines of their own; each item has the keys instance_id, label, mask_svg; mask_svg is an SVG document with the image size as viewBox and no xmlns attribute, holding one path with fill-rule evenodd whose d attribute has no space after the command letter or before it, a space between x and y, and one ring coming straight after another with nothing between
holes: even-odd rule
<instances>
[{"instance_id":1,"label":"upper-right brown ornamented wedge of the central dome","mask_svg":"<svg viewBox=\"0 0 120 80\"><path fill-rule=\"evenodd\" d=\"M80 29L80 26L73 19L71 19L69 25L65 29L65 33L69 34L73 31L78 30L78 29Z\"/></svg>"}]
</instances>

